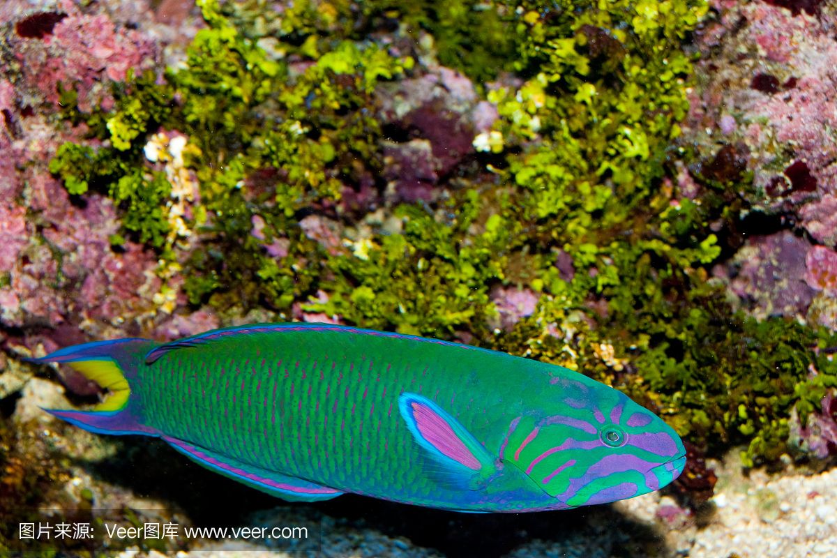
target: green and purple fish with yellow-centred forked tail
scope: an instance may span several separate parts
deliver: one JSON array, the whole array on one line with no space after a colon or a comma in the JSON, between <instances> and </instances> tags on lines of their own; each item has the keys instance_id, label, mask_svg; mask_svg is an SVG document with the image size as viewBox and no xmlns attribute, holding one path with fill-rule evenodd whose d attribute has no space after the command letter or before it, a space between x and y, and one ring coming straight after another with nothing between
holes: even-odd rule
<instances>
[{"instance_id":1,"label":"green and purple fish with yellow-centred forked tail","mask_svg":"<svg viewBox=\"0 0 837 558\"><path fill-rule=\"evenodd\" d=\"M466 512L567 509L660 489L686 451L660 417L578 372L443 340L258 324L70 346L105 387L94 433L143 434L290 501L354 493Z\"/></svg>"}]
</instances>

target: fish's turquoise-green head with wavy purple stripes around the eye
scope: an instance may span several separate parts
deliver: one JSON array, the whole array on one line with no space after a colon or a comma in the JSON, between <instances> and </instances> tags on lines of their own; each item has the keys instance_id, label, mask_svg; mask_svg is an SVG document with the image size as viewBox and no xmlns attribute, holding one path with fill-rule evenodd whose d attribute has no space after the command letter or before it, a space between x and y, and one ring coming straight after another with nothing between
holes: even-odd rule
<instances>
[{"instance_id":1,"label":"fish's turquoise-green head with wavy purple stripes around the eye","mask_svg":"<svg viewBox=\"0 0 837 558\"><path fill-rule=\"evenodd\" d=\"M675 480L686 448L674 429L623 393L584 376L552 378L544 408L521 417L506 460L556 507L633 498Z\"/></svg>"}]
</instances>

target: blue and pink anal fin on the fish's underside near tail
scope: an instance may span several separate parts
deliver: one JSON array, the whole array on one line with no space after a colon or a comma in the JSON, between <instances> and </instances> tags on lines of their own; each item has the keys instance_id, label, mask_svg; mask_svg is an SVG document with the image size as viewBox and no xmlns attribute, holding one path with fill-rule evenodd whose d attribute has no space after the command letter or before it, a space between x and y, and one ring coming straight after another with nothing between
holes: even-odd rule
<instances>
[{"instance_id":1,"label":"blue and pink anal fin on the fish's underside near tail","mask_svg":"<svg viewBox=\"0 0 837 558\"><path fill-rule=\"evenodd\" d=\"M177 449L178 452L203 465L203 467L289 502L317 502L344 494L340 490L331 489L327 486L255 467L249 463L241 463L222 453L213 452L177 438L169 436L163 436L162 438L170 443L172 448Z\"/></svg>"}]
</instances>

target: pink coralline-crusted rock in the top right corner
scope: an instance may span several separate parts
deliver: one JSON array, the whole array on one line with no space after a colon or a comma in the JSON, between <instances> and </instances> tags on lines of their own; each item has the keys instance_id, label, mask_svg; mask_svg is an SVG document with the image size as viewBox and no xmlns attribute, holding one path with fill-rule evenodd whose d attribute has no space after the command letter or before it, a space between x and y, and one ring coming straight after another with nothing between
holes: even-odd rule
<instances>
[{"instance_id":1,"label":"pink coralline-crusted rock in the top right corner","mask_svg":"<svg viewBox=\"0 0 837 558\"><path fill-rule=\"evenodd\" d=\"M768 211L791 213L837 244L837 43L834 10L812 3L716 2L684 125L706 156L742 142ZM792 5L793 4L793 5Z\"/></svg>"}]
</instances>

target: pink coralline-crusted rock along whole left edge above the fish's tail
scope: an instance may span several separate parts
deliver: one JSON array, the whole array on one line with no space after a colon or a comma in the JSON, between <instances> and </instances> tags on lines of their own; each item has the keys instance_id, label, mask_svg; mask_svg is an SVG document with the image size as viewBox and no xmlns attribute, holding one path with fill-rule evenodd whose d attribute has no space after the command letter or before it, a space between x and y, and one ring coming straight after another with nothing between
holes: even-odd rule
<instances>
[{"instance_id":1,"label":"pink coralline-crusted rock along whole left edge above the fish's tail","mask_svg":"<svg viewBox=\"0 0 837 558\"><path fill-rule=\"evenodd\" d=\"M141 19L147 11L144 0L107 7L0 1L0 21L8 23L0 49L0 326L7 343L53 351L90 339L167 337L189 324L218 323L162 311L163 294L167 304L185 305L182 277L164 285L158 255L130 238L111 246L111 235L120 231L113 202L97 192L71 201L48 169L59 146L88 133L84 124L50 117L59 109L59 84L75 91L80 110L106 110L112 85L129 70L159 68L167 35L158 32L166 26L151 28ZM135 28L137 21L149 24ZM10 341L10 335L18 337Z\"/></svg>"}]
</instances>

